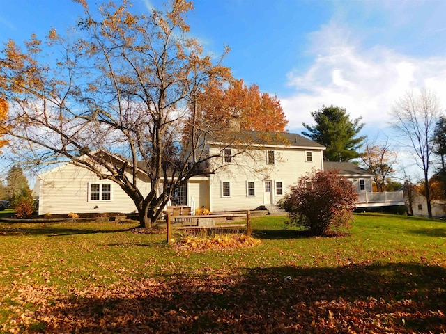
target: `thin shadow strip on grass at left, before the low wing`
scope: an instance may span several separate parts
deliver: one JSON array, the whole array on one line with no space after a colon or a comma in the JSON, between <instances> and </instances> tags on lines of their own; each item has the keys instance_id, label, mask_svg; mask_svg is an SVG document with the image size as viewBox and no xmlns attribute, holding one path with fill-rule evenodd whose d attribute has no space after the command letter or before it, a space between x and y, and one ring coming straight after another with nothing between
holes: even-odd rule
<instances>
[{"instance_id":1,"label":"thin shadow strip on grass at left, before the low wing","mask_svg":"<svg viewBox=\"0 0 446 334\"><path fill-rule=\"evenodd\" d=\"M125 232L131 230L132 228L123 228L119 230L93 230L84 228L63 228L48 225L35 225L33 224L29 228L15 228L14 224L0 227L0 237L8 235L35 235L35 234L47 234L48 237L58 237L64 235L73 234L96 234L96 233L114 233L114 232Z\"/></svg>"}]
</instances>

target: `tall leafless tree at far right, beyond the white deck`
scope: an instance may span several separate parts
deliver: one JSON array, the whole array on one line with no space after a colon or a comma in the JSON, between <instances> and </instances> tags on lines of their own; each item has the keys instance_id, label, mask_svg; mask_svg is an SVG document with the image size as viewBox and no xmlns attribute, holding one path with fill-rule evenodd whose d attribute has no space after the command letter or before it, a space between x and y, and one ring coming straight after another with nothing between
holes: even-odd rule
<instances>
[{"instance_id":1,"label":"tall leafless tree at far right, beyond the white deck","mask_svg":"<svg viewBox=\"0 0 446 334\"><path fill-rule=\"evenodd\" d=\"M436 121L441 116L440 103L436 93L422 88L420 93L407 92L392 106L394 128L397 129L410 150L415 154L417 166L424 174L424 196L427 201L429 218L432 218L431 196L429 193L429 170Z\"/></svg>"}]
</instances>

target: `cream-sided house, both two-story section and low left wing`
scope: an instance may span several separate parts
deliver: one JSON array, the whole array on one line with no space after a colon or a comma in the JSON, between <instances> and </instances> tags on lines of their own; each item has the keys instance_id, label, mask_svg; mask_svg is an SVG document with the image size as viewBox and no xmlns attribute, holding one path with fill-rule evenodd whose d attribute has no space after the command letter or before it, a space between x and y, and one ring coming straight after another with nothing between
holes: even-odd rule
<instances>
[{"instance_id":1,"label":"cream-sided house, both two-story section and low left wing","mask_svg":"<svg viewBox=\"0 0 446 334\"><path fill-rule=\"evenodd\" d=\"M325 147L299 134L242 131L240 136L249 138L248 149L243 142L228 145L216 137L209 140L208 152L220 154L210 161L210 170L215 172L192 177L176 189L172 200L210 211L268 207L277 204L299 177L311 170L323 170ZM146 175L141 171L138 177L142 192L148 193ZM118 184L99 180L91 171L70 163L38 175L35 193L39 214L136 210Z\"/></svg>"}]
</instances>

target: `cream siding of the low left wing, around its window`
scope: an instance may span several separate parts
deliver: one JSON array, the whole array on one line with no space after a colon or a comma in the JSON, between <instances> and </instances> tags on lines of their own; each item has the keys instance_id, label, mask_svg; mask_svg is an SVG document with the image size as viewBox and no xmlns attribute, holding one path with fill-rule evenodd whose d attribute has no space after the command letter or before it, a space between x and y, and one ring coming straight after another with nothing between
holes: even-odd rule
<instances>
[{"instance_id":1,"label":"cream siding of the low left wing, around its window","mask_svg":"<svg viewBox=\"0 0 446 334\"><path fill-rule=\"evenodd\" d=\"M139 181L139 189L148 193L150 185ZM79 166L66 164L40 175L39 214L93 213L93 212L136 212L130 197L118 184L98 177ZM112 200L90 201L89 183L112 184Z\"/></svg>"}]
</instances>

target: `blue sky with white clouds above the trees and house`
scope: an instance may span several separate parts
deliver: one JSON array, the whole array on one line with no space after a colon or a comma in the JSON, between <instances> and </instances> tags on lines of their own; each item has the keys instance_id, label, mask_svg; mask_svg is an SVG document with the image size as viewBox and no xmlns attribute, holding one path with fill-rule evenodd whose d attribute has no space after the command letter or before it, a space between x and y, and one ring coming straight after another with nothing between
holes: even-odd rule
<instances>
[{"instance_id":1,"label":"blue sky with white clouds above the trees and house","mask_svg":"<svg viewBox=\"0 0 446 334\"><path fill-rule=\"evenodd\" d=\"M133 2L147 11L163 1ZM194 8L192 35L216 56L229 45L224 65L279 97L290 132L334 104L362 117L369 137L391 135L391 106L406 91L446 91L446 1L201 0ZM69 0L1 0L0 40L64 31L81 12Z\"/></svg>"}]
</instances>

